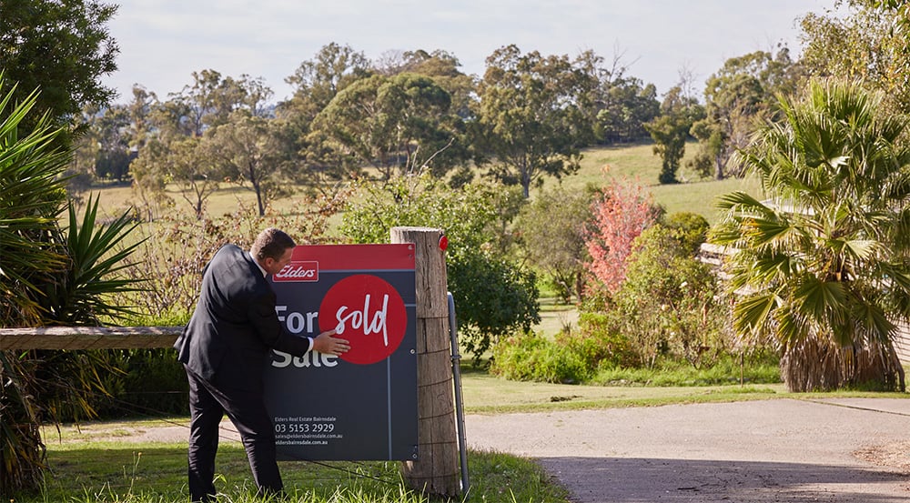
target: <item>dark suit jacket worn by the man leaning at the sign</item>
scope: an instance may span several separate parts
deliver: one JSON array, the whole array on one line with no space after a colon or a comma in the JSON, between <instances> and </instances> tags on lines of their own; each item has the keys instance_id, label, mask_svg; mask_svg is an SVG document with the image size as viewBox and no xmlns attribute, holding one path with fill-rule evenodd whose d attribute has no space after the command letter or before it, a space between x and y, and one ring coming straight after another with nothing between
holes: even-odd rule
<instances>
[{"instance_id":1,"label":"dark suit jacket worn by the man leaning at the sign","mask_svg":"<svg viewBox=\"0 0 910 503\"><path fill-rule=\"evenodd\" d=\"M203 271L193 316L174 344L177 359L209 382L257 391L271 348L305 355L309 337L290 334L275 313L275 292L253 258L226 245Z\"/></svg>"}]
</instances>

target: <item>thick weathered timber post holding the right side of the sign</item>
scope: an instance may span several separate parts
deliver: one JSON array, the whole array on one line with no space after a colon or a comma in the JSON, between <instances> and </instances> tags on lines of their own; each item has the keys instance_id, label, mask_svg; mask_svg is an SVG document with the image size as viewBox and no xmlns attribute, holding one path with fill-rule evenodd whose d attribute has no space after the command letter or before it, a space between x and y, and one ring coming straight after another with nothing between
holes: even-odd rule
<instances>
[{"instance_id":1,"label":"thick weathered timber post holding the right side of the sign","mask_svg":"<svg viewBox=\"0 0 910 503\"><path fill-rule=\"evenodd\" d=\"M428 227L393 227L393 244L413 243L417 297L418 459L403 461L401 472L411 488L457 496L459 449L455 435L455 399L451 371L449 298L442 231Z\"/></svg>"}]
</instances>

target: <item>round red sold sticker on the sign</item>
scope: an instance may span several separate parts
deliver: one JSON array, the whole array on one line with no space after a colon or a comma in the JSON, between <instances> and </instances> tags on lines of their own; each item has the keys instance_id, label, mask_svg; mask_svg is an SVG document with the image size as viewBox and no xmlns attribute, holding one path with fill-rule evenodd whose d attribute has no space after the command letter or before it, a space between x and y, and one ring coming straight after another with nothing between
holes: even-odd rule
<instances>
[{"instance_id":1,"label":"round red sold sticker on the sign","mask_svg":"<svg viewBox=\"0 0 910 503\"><path fill-rule=\"evenodd\" d=\"M319 330L335 329L348 339L341 359L358 365L384 360L398 349L408 326L408 312L394 287L381 277L359 274L329 288L319 305Z\"/></svg>"}]
</instances>

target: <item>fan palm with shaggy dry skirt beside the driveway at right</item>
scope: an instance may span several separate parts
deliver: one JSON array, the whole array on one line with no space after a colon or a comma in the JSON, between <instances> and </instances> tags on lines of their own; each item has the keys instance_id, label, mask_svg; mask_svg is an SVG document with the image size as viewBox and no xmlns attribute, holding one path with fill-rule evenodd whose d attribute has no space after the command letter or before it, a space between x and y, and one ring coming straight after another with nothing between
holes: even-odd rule
<instances>
[{"instance_id":1,"label":"fan palm with shaggy dry skirt beside the driveway at right","mask_svg":"<svg viewBox=\"0 0 910 503\"><path fill-rule=\"evenodd\" d=\"M739 153L769 198L721 198L734 326L772 337L794 391L904 389L893 339L910 318L910 119L857 83L779 98L784 120Z\"/></svg>"}]
</instances>

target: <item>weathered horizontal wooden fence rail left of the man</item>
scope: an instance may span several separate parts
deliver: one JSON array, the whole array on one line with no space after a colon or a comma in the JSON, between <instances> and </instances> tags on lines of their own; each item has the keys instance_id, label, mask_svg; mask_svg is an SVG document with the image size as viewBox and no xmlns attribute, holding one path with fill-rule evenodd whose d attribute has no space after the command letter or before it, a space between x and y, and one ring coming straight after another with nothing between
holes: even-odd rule
<instances>
[{"instance_id":1,"label":"weathered horizontal wooden fence rail left of the man","mask_svg":"<svg viewBox=\"0 0 910 503\"><path fill-rule=\"evenodd\" d=\"M172 347L181 330L183 327L0 328L0 350Z\"/></svg>"}]
</instances>

